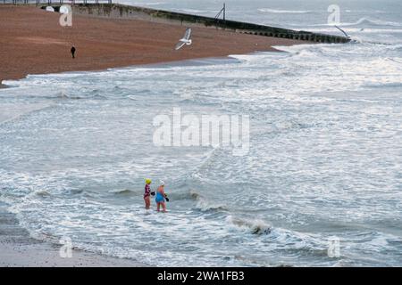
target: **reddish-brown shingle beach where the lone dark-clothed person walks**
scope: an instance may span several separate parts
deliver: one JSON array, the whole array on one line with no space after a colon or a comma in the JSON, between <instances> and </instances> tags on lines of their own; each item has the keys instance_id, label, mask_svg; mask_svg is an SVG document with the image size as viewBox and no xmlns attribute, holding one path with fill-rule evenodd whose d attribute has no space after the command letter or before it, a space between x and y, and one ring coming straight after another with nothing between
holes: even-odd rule
<instances>
[{"instance_id":1,"label":"reddish-brown shingle beach where the lone dark-clothed person walks","mask_svg":"<svg viewBox=\"0 0 402 285\"><path fill-rule=\"evenodd\" d=\"M60 15L35 6L0 5L0 83L28 74L222 57L306 43L193 28L193 45L175 51L186 29L179 25L73 14L72 27L62 27ZM76 59L71 58L71 45L77 48Z\"/></svg>"}]
</instances>

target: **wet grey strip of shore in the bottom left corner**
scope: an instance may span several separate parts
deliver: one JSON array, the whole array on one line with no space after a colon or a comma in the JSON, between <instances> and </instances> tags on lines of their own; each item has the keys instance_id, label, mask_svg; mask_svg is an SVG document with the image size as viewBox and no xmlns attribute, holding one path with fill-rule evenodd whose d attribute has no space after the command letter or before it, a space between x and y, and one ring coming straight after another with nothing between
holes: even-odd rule
<instances>
[{"instance_id":1,"label":"wet grey strip of shore in the bottom left corner","mask_svg":"<svg viewBox=\"0 0 402 285\"><path fill-rule=\"evenodd\" d=\"M103 256L72 249L71 258L62 258L55 245L30 237L16 216L0 202L0 267L145 267L136 260Z\"/></svg>"}]
</instances>

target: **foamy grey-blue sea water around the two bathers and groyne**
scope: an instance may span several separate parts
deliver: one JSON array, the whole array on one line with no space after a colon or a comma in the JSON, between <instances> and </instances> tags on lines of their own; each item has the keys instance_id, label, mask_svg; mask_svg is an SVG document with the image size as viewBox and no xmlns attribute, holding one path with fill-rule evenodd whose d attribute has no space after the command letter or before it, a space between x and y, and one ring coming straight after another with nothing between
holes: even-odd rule
<instances>
[{"instance_id":1,"label":"foamy grey-blue sea water around the two bathers and groyne","mask_svg":"<svg viewBox=\"0 0 402 285\"><path fill-rule=\"evenodd\" d=\"M400 2L228 0L226 17L339 35L330 4L355 43L5 81L0 199L38 239L149 265L402 265ZM247 154L155 145L173 108L248 116ZM146 177L168 214L144 209Z\"/></svg>"}]
</instances>

